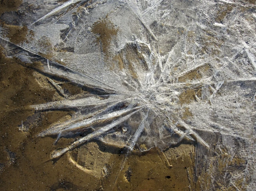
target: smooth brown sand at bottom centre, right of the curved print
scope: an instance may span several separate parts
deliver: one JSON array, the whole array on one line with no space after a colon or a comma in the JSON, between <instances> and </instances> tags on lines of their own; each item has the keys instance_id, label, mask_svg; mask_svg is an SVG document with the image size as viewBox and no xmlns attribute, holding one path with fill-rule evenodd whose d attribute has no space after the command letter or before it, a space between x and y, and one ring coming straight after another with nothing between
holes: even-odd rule
<instances>
[{"instance_id":1,"label":"smooth brown sand at bottom centre, right of the curved print","mask_svg":"<svg viewBox=\"0 0 256 191\"><path fill-rule=\"evenodd\" d=\"M117 179L117 187L127 191L195 189L193 147L184 144L164 154L160 154L158 149L151 149L147 154L131 155ZM171 167L164 160L168 160ZM126 181L127 177L130 181Z\"/></svg>"}]
</instances>

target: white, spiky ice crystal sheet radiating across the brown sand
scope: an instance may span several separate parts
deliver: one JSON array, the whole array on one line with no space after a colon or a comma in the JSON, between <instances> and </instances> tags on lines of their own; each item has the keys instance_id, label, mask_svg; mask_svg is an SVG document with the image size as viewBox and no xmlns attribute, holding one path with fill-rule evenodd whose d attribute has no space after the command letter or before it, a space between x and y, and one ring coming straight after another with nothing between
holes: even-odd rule
<instances>
[{"instance_id":1,"label":"white, spiky ice crystal sheet radiating across the brown sand","mask_svg":"<svg viewBox=\"0 0 256 191\"><path fill-rule=\"evenodd\" d=\"M29 12L28 5L39 10ZM76 109L72 119L41 132L42 137L56 135L58 142L92 130L52 158L92 138L141 151L188 139L197 142L201 156L213 155L216 143L247 161L233 177L251 180L247 189L254 190L253 8L247 1L221 0L24 0L17 21L34 31L34 40L13 44L2 36L0 41L8 56L41 61L44 73L92 92L74 99L51 80L65 99L32 106ZM53 44L51 50L40 47L42 36ZM207 157L202 160L207 163Z\"/></svg>"}]
</instances>

